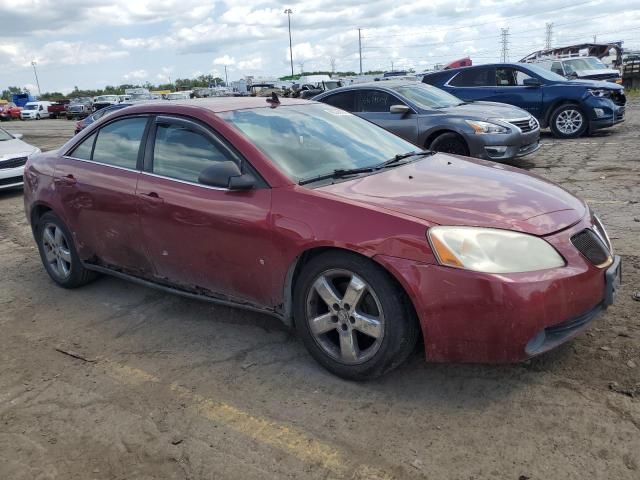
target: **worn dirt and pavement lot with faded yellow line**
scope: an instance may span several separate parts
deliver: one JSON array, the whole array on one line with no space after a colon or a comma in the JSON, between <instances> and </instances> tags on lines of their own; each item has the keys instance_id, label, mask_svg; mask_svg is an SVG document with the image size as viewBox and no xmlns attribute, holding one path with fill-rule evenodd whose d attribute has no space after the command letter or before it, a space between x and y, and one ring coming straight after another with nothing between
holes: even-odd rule
<instances>
[{"instance_id":1,"label":"worn dirt and pavement lot with faded yellow line","mask_svg":"<svg viewBox=\"0 0 640 480\"><path fill-rule=\"evenodd\" d=\"M3 126L47 149L73 122ZM270 317L107 277L57 288L21 191L0 193L0 479L640 478L639 128L630 105L516 162L587 199L623 257L586 334L519 365L416 353L369 383Z\"/></svg>"}]
</instances>

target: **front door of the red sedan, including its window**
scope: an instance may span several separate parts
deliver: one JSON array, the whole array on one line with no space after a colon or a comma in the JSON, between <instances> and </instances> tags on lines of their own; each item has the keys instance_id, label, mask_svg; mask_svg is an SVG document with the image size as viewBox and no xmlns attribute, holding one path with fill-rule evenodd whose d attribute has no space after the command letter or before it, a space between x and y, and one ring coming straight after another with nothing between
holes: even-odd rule
<instances>
[{"instance_id":1,"label":"front door of the red sedan, including its window","mask_svg":"<svg viewBox=\"0 0 640 480\"><path fill-rule=\"evenodd\" d=\"M208 127L158 117L138 182L144 242L157 280L236 301L271 304L271 190L198 183L212 162L242 160Z\"/></svg>"}]
</instances>

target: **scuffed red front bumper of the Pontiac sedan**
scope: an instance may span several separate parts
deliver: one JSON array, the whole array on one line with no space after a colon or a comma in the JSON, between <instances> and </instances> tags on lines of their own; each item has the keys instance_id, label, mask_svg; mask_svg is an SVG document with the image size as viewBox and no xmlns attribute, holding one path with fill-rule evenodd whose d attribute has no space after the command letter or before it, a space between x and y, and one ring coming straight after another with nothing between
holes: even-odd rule
<instances>
[{"instance_id":1,"label":"scuffed red front bumper of the Pontiac sedan","mask_svg":"<svg viewBox=\"0 0 640 480\"><path fill-rule=\"evenodd\" d=\"M546 237L563 268L498 275L376 259L411 298L429 361L519 362L575 337L612 301L613 265L595 267L571 243L586 223Z\"/></svg>"}]
</instances>

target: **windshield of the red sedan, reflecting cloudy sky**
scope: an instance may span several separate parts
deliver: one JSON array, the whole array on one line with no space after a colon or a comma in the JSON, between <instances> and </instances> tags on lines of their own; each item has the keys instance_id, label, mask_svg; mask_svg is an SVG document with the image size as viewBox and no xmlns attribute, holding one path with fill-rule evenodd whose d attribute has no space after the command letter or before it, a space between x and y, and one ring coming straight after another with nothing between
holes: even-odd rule
<instances>
[{"instance_id":1,"label":"windshield of the red sedan, reflecting cloudy sky","mask_svg":"<svg viewBox=\"0 0 640 480\"><path fill-rule=\"evenodd\" d=\"M328 105L289 105L223 112L289 178L378 165L416 146Z\"/></svg>"}]
</instances>

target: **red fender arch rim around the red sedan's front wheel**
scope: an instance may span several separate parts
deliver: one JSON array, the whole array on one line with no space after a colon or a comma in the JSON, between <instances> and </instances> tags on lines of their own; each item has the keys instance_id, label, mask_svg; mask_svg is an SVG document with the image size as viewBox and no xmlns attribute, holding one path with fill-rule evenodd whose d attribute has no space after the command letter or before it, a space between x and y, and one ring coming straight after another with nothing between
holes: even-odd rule
<instances>
[{"instance_id":1,"label":"red fender arch rim around the red sedan's front wheel","mask_svg":"<svg viewBox=\"0 0 640 480\"><path fill-rule=\"evenodd\" d=\"M307 264L312 258L317 257L326 252L344 252L351 255L357 255L362 258L366 258L370 260L377 266L379 266L389 277L389 279L396 285L396 287L402 292L406 299L406 305L410 309L410 314L418 326L420 326L420 322L418 319L418 315L416 312L415 305L413 304L413 300L411 296L407 293L406 288L403 285L396 275L389 270L385 265L377 261L376 256L365 255L362 252L358 252L356 250L350 250L348 248L334 247L334 246L318 246L312 247L307 250L304 250L300 253L292 262L287 270L287 274L284 282L284 291L283 291L283 301L282 301L282 320L283 322L289 326L293 326L293 290L296 284L296 279L300 275L300 272L304 268L305 264Z\"/></svg>"}]
</instances>

